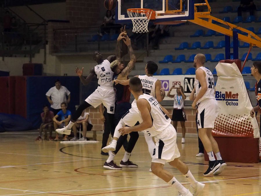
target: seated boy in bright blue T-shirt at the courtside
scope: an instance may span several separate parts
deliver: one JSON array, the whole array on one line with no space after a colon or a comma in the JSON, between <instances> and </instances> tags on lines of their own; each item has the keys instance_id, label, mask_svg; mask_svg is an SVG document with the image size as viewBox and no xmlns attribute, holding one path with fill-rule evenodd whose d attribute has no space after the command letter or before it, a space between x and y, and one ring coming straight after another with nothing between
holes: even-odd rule
<instances>
[{"instance_id":1,"label":"seated boy in bright blue T-shirt at the courtside","mask_svg":"<svg viewBox=\"0 0 261 196\"><path fill-rule=\"evenodd\" d=\"M70 110L66 110L66 108L67 108L66 102L62 102L61 110L55 115L55 117L53 117L53 125L55 130L57 128L63 128L64 126L67 126L68 123L70 122L72 114ZM60 121L57 120L58 117ZM56 133L56 137L54 141L58 141L58 140L59 140L59 136L58 133ZM65 135L63 140L68 141L68 136Z\"/></svg>"}]
</instances>

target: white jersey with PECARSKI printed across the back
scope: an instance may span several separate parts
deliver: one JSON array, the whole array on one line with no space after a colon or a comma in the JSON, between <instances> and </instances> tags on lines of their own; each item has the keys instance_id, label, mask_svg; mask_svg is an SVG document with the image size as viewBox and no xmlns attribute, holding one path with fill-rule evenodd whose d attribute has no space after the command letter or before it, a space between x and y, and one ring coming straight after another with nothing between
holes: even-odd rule
<instances>
[{"instance_id":1,"label":"white jersey with PECARSKI printed across the back","mask_svg":"<svg viewBox=\"0 0 261 196\"><path fill-rule=\"evenodd\" d=\"M147 75L139 75L138 77L142 82L142 92L157 98L155 94L155 83L158 79Z\"/></svg>"}]
</instances>

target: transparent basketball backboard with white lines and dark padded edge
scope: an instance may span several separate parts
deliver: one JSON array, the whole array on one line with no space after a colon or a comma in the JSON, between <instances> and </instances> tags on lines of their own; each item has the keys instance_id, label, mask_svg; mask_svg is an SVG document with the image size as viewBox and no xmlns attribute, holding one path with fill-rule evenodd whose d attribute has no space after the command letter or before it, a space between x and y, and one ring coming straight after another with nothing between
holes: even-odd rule
<instances>
[{"instance_id":1,"label":"transparent basketball backboard with white lines and dark padded edge","mask_svg":"<svg viewBox=\"0 0 261 196\"><path fill-rule=\"evenodd\" d=\"M166 21L186 21L194 19L194 0L117 0L116 23L131 23L129 8L147 8L156 12L153 23Z\"/></svg>"}]
</instances>

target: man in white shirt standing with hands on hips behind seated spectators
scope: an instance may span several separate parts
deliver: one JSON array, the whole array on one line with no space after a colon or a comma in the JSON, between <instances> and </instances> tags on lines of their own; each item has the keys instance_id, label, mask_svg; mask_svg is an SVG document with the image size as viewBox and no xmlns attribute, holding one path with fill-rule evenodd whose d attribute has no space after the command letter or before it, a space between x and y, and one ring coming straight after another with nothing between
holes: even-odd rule
<instances>
[{"instance_id":1,"label":"man in white shirt standing with hands on hips behind seated spectators","mask_svg":"<svg viewBox=\"0 0 261 196\"><path fill-rule=\"evenodd\" d=\"M71 99L70 91L65 86L61 86L61 82L58 79L55 80L55 86L50 88L45 95L51 104L54 115L61 110L62 102L66 102L68 104ZM66 99L66 95L68 99Z\"/></svg>"}]
</instances>

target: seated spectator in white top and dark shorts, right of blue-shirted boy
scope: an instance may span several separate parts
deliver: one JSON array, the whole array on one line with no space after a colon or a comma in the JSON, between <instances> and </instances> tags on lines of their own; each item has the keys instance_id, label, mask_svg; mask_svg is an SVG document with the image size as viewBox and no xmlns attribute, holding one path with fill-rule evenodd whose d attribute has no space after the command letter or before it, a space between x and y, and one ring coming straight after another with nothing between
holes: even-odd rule
<instances>
[{"instance_id":1,"label":"seated spectator in white top and dark shorts, right of blue-shirted boy","mask_svg":"<svg viewBox=\"0 0 261 196\"><path fill-rule=\"evenodd\" d=\"M86 132L92 130L93 125L90 121L90 114L88 112L86 112L85 110L83 110L81 113L81 116L76 120L75 124L73 124L72 129L73 129L74 137L72 139L70 139L70 141L77 140L77 129L76 128L79 128L80 124L82 124L83 137L81 139L78 139L78 141L89 140L88 138L86 138ZM96 132L95 132L95 134L96 134ZM93 138L93 140L96 140L96 138Z\"/></svg>"}]
</instances>

